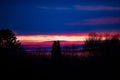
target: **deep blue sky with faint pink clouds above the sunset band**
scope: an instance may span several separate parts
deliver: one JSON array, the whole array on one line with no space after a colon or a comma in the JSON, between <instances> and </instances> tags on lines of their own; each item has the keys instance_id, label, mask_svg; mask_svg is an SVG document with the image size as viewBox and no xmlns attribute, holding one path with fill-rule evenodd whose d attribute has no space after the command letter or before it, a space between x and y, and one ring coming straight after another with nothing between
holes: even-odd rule
<instances>
[{"instance_id":1,"label":"deep blue sky with faint pink clouds above the sunset band","mask_svg":"<svg viewBox=\"0 0 120 80\"><path fill-rule=\"evenodd\" d=\"M120 31L120 1L3 0L0 28L18 34Z\"/></svg>"}]
</instances>

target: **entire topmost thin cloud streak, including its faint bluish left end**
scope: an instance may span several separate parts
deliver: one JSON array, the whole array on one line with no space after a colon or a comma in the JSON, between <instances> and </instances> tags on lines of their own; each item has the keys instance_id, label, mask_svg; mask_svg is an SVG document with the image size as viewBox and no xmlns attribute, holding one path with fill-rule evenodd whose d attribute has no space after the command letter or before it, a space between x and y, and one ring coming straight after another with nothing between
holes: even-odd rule
<instances>
[{"instance_id":1,"label":"entire topmost thin cloud streak, including its faint bluish left end","mask_svg":"<svg viewBox=\"0 0 120 80\"><path fill-rule=\"evenodd\" d=\"M120 7L115 7L115 6L81 6L81 5L75 5L72 7L47 7L47 6L42 6L39 7L40 9L43 10L87 10L87 11L101 11L101 10L120 10Z\"/></svg>"}]
</instances>

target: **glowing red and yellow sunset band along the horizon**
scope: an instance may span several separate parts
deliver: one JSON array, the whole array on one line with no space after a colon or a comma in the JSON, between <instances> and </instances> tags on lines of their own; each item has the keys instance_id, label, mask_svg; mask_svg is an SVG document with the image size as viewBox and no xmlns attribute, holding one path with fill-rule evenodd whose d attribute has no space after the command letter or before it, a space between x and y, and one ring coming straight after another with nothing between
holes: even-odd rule
<instances>
[{"instance_id":1,"label":"glowing red and yellow sunset band along the horizon","mask_svg":"<svg viewBox=\"0 0 120 80\"><path fill-rule=\"evenodd\" d=\"M103 35L107 32L99 32ZM108 32L109 34L115 34L116 32ZM84 41L88 38L88 33L69 33L69 34L50 34L50 35L18 35L18 40L23 45L29 45L29 47L51 46L52 41L59 40L61 45L80 45L84 44Z\"/></svg>"}]
</instances>

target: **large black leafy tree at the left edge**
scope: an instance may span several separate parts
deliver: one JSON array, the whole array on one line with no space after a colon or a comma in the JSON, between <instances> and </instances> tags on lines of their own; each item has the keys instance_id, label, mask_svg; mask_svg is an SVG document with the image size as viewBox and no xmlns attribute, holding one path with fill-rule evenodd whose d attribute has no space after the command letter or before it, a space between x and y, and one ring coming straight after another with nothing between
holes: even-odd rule
<instances>
[{"instance_id":1,"label":"large black leafy tree at the left edge","mask_svg":"<svg viewBox=\"0 0 120 80\"><path fill-rule=\"evenodd\" d=\"M20 56L23 53L23 48L19 40L17 40L15 34L10 29L0 30L0 53L4 55L16 55Z\"/></svg>"}]
</instances>

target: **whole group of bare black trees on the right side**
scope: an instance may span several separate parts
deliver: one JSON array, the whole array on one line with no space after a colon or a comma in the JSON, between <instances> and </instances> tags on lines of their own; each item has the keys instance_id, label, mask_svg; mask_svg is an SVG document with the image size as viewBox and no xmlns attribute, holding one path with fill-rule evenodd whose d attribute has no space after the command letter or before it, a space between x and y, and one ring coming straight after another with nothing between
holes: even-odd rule
<instances>
[{"instance_id":1,"label":"whole group of bare black trees on the right side","mask_svg":"<svg viewBox=\"0 0 120 80\"><path fill-rule=\"evenodd\" d=\"M120 56L120 33L104 35L95 32L90 33L83 50L93 56Z\"/></svg>"}]
</instances>

